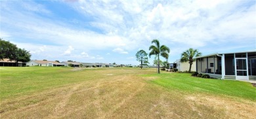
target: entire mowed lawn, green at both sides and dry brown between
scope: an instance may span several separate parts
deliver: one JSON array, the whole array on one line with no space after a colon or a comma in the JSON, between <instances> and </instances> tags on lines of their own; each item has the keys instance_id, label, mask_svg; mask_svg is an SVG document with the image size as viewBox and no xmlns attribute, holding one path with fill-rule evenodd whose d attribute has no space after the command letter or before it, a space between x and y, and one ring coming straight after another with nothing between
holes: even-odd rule
<instances>
[{"instance_id":1,"label":"entire mowed lawn, green at both sides and dry brown between","mask_svg":"<svg viewBox=\"0 0 256 119\"><path fill-rule=\"evenodd\" d=\"M256 88L156 69L0 67L0 118L255 118Z\"/></svg>"}]
</instances>

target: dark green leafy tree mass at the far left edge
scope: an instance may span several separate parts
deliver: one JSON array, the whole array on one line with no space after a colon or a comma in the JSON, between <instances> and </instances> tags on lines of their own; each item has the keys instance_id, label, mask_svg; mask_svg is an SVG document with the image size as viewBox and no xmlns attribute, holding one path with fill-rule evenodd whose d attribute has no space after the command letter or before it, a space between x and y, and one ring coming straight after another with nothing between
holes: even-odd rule
<instances>
[{"instance_id":1,"label":"dark green leafy tree mass at the far left edge","mask_svg":"<svg viewBox=\"0 0 256 119\"><path fill-rule=\"evenodd\" d=\"M30 61L31 54L24 48L18 48L16 44L12 44L9 41L4 41L0 38L0 59L9 59L10 61L19 61L26 63Z\"/></svg>"}]
</instances>

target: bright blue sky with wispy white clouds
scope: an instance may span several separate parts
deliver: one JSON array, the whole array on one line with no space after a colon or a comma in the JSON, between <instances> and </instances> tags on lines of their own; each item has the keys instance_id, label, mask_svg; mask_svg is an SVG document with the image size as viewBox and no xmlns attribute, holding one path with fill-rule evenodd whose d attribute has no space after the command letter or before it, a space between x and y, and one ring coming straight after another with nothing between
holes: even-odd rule
<instances>
[{"instance_id":1,"label":"bright blue sky with wispy white clouds","mask_svg":"<svg viewBox=\"0 0 256 119\"><path fill-rule=\"evenodd\" d=\"M256 49L256 1L0 0L0 31L31 59L139 65L135 54L158 39L173 63L188 48Z\"/></svg>"}]
</instances>

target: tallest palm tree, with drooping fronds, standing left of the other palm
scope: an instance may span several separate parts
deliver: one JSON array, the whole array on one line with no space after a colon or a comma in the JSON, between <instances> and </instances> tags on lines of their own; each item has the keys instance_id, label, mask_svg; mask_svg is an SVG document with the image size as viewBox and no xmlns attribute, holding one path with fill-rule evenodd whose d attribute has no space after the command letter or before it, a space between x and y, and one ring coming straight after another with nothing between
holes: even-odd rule
<instances>
[{"instance_id":1,"label":"tallest palm tree, with drooping fronds, standing left of the other palm","mask_svg":"<svg viewBox=\"0 0 256 119\"><path fill-rule=\"evenodd\" d=\"M149 50L151 51L149 53L149 56L156 55L156 57L158 58L158 73L160 73L159 57L162 56L163 58L168 59L170 49L165 45L160 46L160 42L158 41L158 39L154 39L151 43L154 43L155 45L150 46Z\"/></svg>"}]
</instances>

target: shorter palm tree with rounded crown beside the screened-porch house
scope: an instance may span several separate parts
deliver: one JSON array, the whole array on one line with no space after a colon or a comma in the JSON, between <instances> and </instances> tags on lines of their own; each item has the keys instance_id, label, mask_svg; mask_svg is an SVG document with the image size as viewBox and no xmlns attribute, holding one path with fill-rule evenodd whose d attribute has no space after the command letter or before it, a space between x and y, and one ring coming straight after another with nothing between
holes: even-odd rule
<instances>
[{"instance_id":1,"label":"shorter palm tree with rounded crown beside the screened-porch house","mask_svg":"<svg viewBox=\"0 0 256 119\"><path fill-rule=\"evenodd\" d=\"M191 71L191 66L193 64L193 61L196 60L196 57L201 56L201 55L202 55L201 52L198 52L197 49L193 49L193 48L189 48L188 50L182 52L182 54L181 54L181 62L188 61L188 63L190 63L188 72Z\"/></svg>"}]
</instances>

